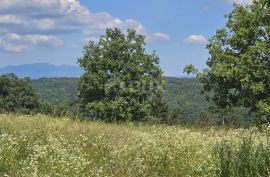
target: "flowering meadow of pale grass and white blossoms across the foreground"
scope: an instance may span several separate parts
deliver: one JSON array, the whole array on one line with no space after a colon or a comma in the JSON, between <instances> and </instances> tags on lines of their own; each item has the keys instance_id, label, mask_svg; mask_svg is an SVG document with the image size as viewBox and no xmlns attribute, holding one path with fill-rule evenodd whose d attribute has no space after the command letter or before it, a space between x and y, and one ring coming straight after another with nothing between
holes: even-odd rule
<instances>
[{"instance_id":1,"label":"flowering meadow of pale grass and white blossoms across the foreground","mask_svg":"<svg viewBox=\"0 0 270 177\"><path fill-rule=\"evenodd\" d=\"M268 132L0 115L0 176L269 176Z\"/></svg>"}]
</instances>

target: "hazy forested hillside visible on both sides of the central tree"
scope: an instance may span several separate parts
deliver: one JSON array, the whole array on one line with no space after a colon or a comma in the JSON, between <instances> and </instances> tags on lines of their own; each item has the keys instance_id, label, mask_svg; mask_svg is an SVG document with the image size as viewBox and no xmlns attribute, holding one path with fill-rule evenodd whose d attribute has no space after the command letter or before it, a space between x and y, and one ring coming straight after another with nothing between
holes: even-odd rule
<instances>
[{"instance_id":1,"label":"hazy forested hillside visible on both sides of the central tree","mask_svg":"<svg viewBox=\"0 0 270 177\"><path fill-rule=\"evenodd\" d=\"M39 95L54 104L74 101L78 78L41 78L32 80L31 85ZM205 97L200 94L202 85L192 78L166 77L165 99L169 108L181 107L186 113L194 114L207 108Z\"/></svg>"}]
</instances>

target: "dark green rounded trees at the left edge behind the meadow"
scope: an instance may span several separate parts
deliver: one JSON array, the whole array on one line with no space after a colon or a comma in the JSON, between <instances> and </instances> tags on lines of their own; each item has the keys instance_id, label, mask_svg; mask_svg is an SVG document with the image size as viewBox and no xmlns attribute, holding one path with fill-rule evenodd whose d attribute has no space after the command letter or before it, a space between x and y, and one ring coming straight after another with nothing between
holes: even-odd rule
<instances>
[{"instance_id":1,"label":"dark green rounded trees at the left edge behind the meadow","mask_svg":"<svg viewBox=\"0 0 270 177\"><path fill-rule=\"evenodd\" d=\"M0 76L0 111L32 113L39 109L39 97L29 84L14 74Z\"/></svg>"}]
</instances>

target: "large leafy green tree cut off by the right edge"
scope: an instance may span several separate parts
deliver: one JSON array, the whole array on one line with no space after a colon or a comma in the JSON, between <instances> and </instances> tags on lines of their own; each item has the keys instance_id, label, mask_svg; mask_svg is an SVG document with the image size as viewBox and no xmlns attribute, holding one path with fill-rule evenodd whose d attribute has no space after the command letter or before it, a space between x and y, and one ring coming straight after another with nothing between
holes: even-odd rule
<instances>
[{"instance_id":1,"label":"large leafy green tree cut off by the right edge","mask_svg":"<svg viewBox=\"0 0 270 177\"><path fill-rule=\"evenodd\" d=\"M223 109L250 108L259 124L270 122L270 1L235 5L226 27L207 45L208 67L198 76ZM186 67L187 72L195 71Z\"/></svg>"}]
</instances>

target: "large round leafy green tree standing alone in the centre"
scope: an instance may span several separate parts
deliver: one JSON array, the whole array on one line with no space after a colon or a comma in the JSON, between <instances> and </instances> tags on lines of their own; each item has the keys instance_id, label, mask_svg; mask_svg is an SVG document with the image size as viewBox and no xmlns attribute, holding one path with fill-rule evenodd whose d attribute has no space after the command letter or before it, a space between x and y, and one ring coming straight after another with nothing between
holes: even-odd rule
<instances>
[{"instance_id":1,"label":"large round leafy green tree standing alone in the centre","mask_svg":"<svg viewBox=\"0 0 270 177\"><path fill-rule=\"evenodd\" d=\"M145 121L159 112L162 70L159 57L147 54L145 37L135 30L107 29L99 42L90 41L78 63L78 96L90 118Z\"/></svg>"}]
</instances>

